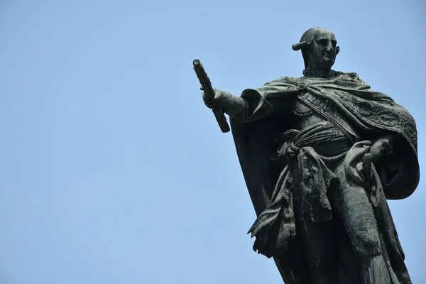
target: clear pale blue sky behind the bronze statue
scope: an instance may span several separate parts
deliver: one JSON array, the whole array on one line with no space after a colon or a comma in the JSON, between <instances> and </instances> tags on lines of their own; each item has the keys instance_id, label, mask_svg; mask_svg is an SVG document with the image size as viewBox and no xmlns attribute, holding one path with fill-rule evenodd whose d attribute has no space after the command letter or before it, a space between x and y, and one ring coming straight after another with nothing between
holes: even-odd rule
<instances>
[{"instance_id":1,"label":"clear pale blue sky behind the bronze statue","mask_svg":"<svg viewBox=\"0 0 426 284\"><path fill-rule=\"evenodd\" d=\"M422 0L0 0L0 283L282 283L251 249L234 142L192 60L239 95L300 77L291 45L329 28L334 69L415 117L424 177L425 13ZM413 283L425 182L390 202Z\"/></svg>"}]
</instances>

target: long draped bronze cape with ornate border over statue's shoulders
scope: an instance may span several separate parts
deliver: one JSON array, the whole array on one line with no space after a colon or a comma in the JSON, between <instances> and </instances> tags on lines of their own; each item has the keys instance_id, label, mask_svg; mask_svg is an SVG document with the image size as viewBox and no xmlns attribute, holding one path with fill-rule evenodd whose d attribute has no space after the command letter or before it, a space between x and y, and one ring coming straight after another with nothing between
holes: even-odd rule
<instances>
[{"instance_id":1,"label":"long draped bronze cape with ornate border over statue's shoulders","mask_svg":"<svg viewBox=\"0 0 426 284\"><path fill-rule=\"evenodd\" d=\"M302 100L326 119L340 117L343 122L348 121L362 140L375 141L387 133L400 136L399 145L376 165L383 192L386 199L399 200L410 196L417 187L420 170L415 120L391 97L373 91L356 73L337 72L331 79L282 77L258 89L246 89L241 97L249 104L248 113L231 118L231 130L257 216L271 204L279 171L271 165L270 152L275 139L293 128L295 116L286 106L295 99ZM403 278L405 273L408 275L403 250L388 204L383 203L380 210L386 216L378 220L383 224L379 230L386 237L389 261L395 266L398 278ZM297 236L288 251L274 260L285 283L305 283L307 269Z\"/></svg>"}]
</instances>

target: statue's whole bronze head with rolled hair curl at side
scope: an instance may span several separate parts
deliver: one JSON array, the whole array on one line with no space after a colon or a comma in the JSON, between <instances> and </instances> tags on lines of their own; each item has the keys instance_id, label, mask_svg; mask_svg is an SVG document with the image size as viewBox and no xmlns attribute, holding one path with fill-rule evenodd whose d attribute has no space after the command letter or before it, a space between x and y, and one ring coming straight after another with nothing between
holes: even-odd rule
<instances>
[{"instance_id":1,"label":"statue's whole bronze head with rolled hair curl at side","mask_svg":"<svg viewBox=\"0 0 426 284\"><path fill-rule=\"evenodd\" d=\"M340 50L336 43L336 37L327 28L310 28L303 33L300 43L292 45L292 48L302 50L305 69L329 71Z\"/></svg>"}]
</instances>

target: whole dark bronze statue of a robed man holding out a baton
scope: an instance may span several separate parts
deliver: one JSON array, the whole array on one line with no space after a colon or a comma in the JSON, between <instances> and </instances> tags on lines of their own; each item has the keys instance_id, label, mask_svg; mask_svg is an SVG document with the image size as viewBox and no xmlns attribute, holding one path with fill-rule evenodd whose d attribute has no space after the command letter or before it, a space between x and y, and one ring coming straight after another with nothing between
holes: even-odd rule
<instances>
[{"instance_id":1,"label":"whole dark bronze statue of a robed man holding out a baton","mask_svg":"<svg viewBox=\"0 0 426 284\"><path fill-rule=\"evenodd\" d=\"M356 73L332 70L339 47L327 29L310 28L293 50L303 77L241 97L207 92L195 61L222 131L230 117L257 215L253 249L288 284L411 283L386 199L408 197L419 181L413 117Z\"/></svg>"}]
</instances>

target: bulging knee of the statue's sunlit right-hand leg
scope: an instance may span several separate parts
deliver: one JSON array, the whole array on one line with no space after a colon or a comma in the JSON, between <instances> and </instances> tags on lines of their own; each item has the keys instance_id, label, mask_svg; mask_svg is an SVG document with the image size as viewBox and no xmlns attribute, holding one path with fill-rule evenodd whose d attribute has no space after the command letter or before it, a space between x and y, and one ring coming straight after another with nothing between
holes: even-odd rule
<instances>
[{"instance_id":1,"label":"bulging knee of the statue's sunlit right-hand leg","mask_svg":"<svg viewBox=\"0 0 426 284\"><path fill-rule=\"evenodd\" d=\"M376 228L363 228L354 231L353 242L361 256L371 256L381 252L380 237Z\"/></svg>"}]
</instances>

